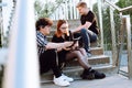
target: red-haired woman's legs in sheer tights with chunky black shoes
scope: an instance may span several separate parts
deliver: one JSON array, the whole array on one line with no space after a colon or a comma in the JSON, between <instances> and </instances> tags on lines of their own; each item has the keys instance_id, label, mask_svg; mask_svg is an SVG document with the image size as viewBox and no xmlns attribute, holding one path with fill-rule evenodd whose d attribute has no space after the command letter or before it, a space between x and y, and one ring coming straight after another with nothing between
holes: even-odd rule
<instances>
[{"instance_id":1,"label":"red-haired woman's legs in sheer tights with chunky black shoes","mask_svg":"<svg viewBox=\"0 0 132 88\"><path fill-rule=\"evenodd\" d=\"M75 57L78 59L79 64L84 67L84 72L80 75L82 79L95 79L95 78L101 79L106 77L103 73L99 73L90 67L86 56L86 51L84 48L80 48L79 51L74 51L66 55L67 61L73 59Z\"/></svg>"}]
</instances>

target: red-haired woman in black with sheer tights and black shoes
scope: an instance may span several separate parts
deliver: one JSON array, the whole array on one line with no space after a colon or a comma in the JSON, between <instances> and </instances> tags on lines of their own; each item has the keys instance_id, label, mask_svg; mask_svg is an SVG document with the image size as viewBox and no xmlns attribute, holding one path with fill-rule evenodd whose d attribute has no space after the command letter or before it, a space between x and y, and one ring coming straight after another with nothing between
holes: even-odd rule
<instances>
[{"instance_id":1,"label":"red-haired woman in black with sheer tights and black shoes","mask_svg":"<svg viewBox=\"0 0 132 88\"><path fill-rule=\"evenodd\" d=\"M52 38L52 42L64 43L66 41L73 40L74 36L68 30L68 22L66 20L58 20L57 30ZM84 68L84 72L81 74L82 79L105 78L106 75L103 73L99 73L91 68L91 66L88 64L88 56L85 48L78 46L78 42L76 42L72 47L59 47L57 50L59 64L77 58L79 65Z\"/></svg>"}]
</instances>

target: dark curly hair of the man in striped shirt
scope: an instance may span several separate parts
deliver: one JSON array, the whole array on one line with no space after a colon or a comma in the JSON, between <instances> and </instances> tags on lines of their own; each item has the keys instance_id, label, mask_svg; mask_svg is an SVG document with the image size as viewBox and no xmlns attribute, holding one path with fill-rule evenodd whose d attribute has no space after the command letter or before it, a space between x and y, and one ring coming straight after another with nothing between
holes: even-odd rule
<instances>
[{"instance_id":1,"label":"dark curly hair of the man in striped shirt","mask_svg":"<svg viewBox=\"0 0 132 88\"><path fill-rule=\"evenodd\" d=\"M45 28L46 25L50 25L52 26L53 25L53 21L48 18L41 18L36 21L35 23L35 28L36 28L36 31L40 30L40 26L43 26Z\"/></svg>"}]
</instances>

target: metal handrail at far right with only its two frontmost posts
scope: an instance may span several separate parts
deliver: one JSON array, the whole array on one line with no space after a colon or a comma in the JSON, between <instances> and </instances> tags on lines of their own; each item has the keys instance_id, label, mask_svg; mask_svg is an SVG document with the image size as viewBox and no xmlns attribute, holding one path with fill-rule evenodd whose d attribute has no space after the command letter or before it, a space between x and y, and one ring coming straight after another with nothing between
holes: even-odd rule
<instances>
[{"instance_id":1,"label":"metal handrail at far right with only its two frontmost posts","mask_svg":"<svg viewBox=\"0 0 132 88\"><path fill-rule=\"evenodd\" d=\"M129 25L129 24L131 24L130 22L129 22L129 20L130 19L128 19L128 18L130 18L130 15L123 15L122 13L123 12L125 12L125 11L128 11L128 10L131 10L132 9L132 6L130 6L130 7L127 7L127 8L119 8L118 6L116 6L114 3L112 3L112 2L110 2L110 1L108 1L108 0L105 0L110 7L112 7L112 8L114 8L116 10L118 10L119 11L119 14L120 14L120 19L121 19L121 28L120 28L120 34L121 34L121 37L120 37L120 42L121 42L121 44L119 44L119 47L118 47L118 61L116 62L117 63L117 66L118 66L118 73L120 73L120 72L122 72L121 69L120 69L120 62L121 62L121 54L122 54L122 51L123 51L123 42L124 42L124 31L123 31L123 29L124 29L124 26L125 26L125 29L127 29L127 35L128 35L128 37L127 37L127 40L128 40L128 68L129 68L129 73L127 73L128 74L128 76L129 76L129 78L130 79L132 79L132 65L131 65L131 62L132 62L132 54L131 54L131 30L130 30L130 26L131 25ZM129 23L124 23L124 21L127 21L127 22L129 22ZM127 25L128 24L128 25Z\"/></svg>"}]
</instances>

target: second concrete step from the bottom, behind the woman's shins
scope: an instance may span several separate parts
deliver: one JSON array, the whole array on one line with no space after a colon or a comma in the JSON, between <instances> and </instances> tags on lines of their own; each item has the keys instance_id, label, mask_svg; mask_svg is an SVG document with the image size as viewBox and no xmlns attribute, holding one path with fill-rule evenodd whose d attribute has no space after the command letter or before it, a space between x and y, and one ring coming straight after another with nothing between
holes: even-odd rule
<instances>
[{"instance_id":1,"label":"second concrete step from the bottom, behind the woman's shins","mask_svg":"<svg viewBox=\"0 0 132 88\"><path fill-rule=\"evenodd\" d=\"M110 58L109 56L106 55L96 55L96 56L91 56L88 58L88 63L90 65L100 65L100 64L109 64L110 63ZM74 61L69 61L67 62L66 66L78 66L78 61L74 59Z\"/></svg>"}]
</instances>

